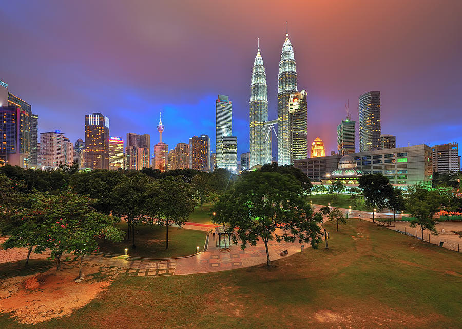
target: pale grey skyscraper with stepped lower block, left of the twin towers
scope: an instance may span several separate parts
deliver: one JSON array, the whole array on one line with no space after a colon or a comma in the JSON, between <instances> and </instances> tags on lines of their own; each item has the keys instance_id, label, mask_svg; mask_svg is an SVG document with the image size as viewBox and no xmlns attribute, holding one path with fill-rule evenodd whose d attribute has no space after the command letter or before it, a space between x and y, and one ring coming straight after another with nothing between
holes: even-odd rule
<instances>
[{"instance_id":1,"label":"pale grey skyscraper with stepped lower block, left of the twin towers","mask_svg":"<svg viewBox=\"0 0 462 329\"><path fill-rule=\"evenodd\" d=\"M222 145L224 139L233 135L233 104L226 95L218 95L218 99L215 102L216 111L216 143L215 149L217 153L217 167L227 168L228 163L233 159L237 159L236 155L230 154L227 149L226 154L223 153ZM226 139L229 142L229 138Z\"/></svg>"}]
</instances>

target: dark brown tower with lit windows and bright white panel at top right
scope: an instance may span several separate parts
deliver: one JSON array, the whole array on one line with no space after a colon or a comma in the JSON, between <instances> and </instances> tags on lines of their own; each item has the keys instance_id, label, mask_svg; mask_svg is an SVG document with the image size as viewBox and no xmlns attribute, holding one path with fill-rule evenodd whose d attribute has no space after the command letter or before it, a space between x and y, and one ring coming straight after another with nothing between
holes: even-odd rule
<instances>
[{"instance_id":1,"label":"dark brown tower with lit windows and bright white panel at top right","mask_svg":"<svg viewBox=\"0 0 462 329\"><path fill-rule=\"evenodd\" d=\"M85 167L109 169L109 118L101 113L85 116Z\"/></svg>"}]
</instances>

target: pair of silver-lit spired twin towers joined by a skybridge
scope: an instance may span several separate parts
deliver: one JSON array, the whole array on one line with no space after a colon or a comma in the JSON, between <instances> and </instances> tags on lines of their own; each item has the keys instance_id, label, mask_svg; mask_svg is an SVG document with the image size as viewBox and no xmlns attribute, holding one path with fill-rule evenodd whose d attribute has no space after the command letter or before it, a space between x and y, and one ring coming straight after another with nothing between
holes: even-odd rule
<instances>
[{"instance_id":1,"label":"pair of silver-lit spired twin towers joined by a skybridge","mask_svg":"<svg viewBox=\"0 0 462 329\"><path fill-rule=\"evenodd\" d=\"M278 125L278 164L289 165L293 162L293 125L291 123L289 105L290 101L293 101L293 94L297 92L297 71L295 67L294 50L286 30L281 60L279 62L278 118L277 120L268 121L268 86L266 84L265 67L260 53L260 38L258 38L257 42L257 56L255 57L254 67L252 69L250 96L249 166L252 168L255 165L271 163L270 130L272 128L274 130L274 124Z\"/></svg>"}]
</instances>

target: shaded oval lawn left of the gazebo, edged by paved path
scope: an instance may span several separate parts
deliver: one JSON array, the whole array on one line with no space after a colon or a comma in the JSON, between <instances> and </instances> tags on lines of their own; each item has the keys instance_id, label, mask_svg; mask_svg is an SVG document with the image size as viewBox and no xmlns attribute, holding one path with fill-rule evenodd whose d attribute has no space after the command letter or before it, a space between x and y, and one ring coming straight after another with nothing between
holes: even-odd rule
<instances>
[{"instance_id":1,"label":"shaded oval lawn left of the gazebo, edged by paved path","mask_svg":"<svg viewBox=\"0 0 462 329\"><path fill-rule=\"evenodd\" d=\"M127 231L127 223L118 224L119 228L124 232ZM167 258L187 256L196 253L196 247L199 246L202 250L206 233L195 230L186 230L184 228L169 227L168 228L168 250L165 249L165 226L157 225L138 225L137 233L135 234L136 249L131 248L130 240L121 242L106 242L100 243L100 252L113 254L124 254L125 248L128 248L129 255L135 257L147 258Z\"/></svg>"}]
</instances>

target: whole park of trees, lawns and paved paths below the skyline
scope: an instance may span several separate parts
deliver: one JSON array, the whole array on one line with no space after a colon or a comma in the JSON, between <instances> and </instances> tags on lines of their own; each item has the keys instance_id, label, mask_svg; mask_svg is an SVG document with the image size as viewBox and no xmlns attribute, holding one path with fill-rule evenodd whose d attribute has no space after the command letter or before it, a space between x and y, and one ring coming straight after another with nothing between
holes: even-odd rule
<instances>
[{"instance_id":1,"label":"whole park of trees, lawns and paved paths below the skyline","mask_svg":"<svg viewBox=\"0 0 462 329\"><path fill-rule=\"evenodd\" d=\"M2 328L459 327L462 223L437 215L460 207L447 190L391 204L364 183L355 204L310 195L291 166L63 171L54 185L1 171Z\"/></svg>"}]
</instances>

